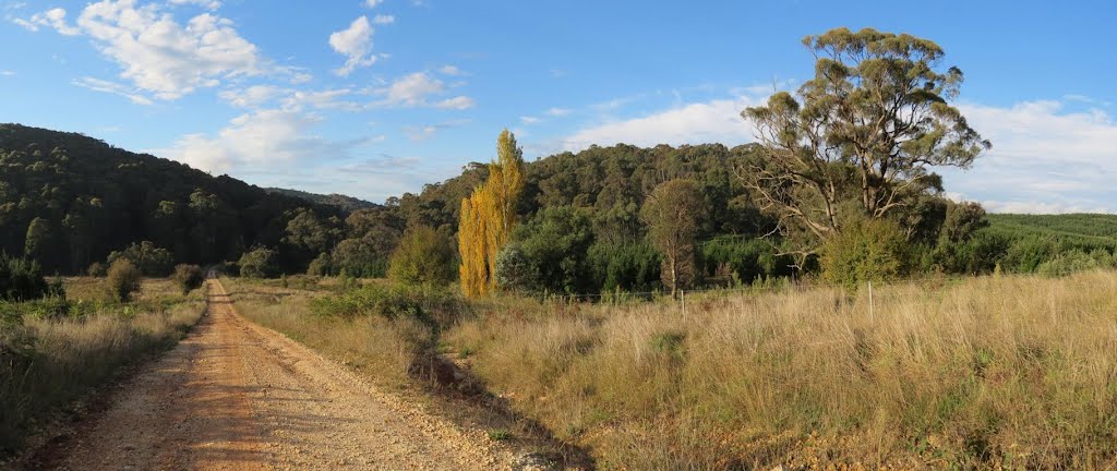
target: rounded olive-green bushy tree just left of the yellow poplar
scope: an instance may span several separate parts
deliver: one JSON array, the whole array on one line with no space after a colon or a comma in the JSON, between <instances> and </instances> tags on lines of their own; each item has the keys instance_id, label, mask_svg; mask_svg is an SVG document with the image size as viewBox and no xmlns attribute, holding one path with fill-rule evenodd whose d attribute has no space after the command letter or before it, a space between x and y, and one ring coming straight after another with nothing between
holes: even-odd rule
<instances>
[{"instance_id":1,"label":"rounded olive-green bushy tree just left of the yellow poplar","mask_svg":"<svg viewBox=\"0 0 1117 471\"><path fill-rule=\"evenodd\" d=\"M454 280L454 248L428 225L408 229L392 253L388 277L407 285L442 286Z\"/></svg>"}]
</instances>

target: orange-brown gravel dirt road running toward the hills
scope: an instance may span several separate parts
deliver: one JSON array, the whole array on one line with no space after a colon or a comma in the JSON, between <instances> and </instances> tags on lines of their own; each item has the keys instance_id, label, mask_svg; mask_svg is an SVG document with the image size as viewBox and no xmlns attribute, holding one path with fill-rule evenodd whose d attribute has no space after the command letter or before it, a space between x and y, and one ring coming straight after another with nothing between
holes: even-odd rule
<instances>
[{"instance_id":1,"label":"orange-brown gravel dirt road running toward the hills","mask_svg":"<svg viewBox=\"0 0 1117 471\"><path fill-rule=\"evenodd\" d=\"M130 379L50 467L509 469L464 432L238 316L217 280L193 333Z\"/></svg>"}]
</instances>

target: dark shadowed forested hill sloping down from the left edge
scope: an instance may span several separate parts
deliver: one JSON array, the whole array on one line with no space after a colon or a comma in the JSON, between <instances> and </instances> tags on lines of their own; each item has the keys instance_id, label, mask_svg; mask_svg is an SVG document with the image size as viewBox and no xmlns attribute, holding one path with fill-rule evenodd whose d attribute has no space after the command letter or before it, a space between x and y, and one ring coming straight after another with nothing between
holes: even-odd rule
<instances>
[{"instance_id":1,"label":"dark shadowed forested hill sloping down from the left edge","mask_svg":"<svg viewBox=\"0 0 1117 471\"><path fill-rule=\"evenodd\" d=\"M281 246L300 211L341 212L82 134L0 125L0 250L27 253L48 273L83 272L141 241L176 262L236 260ZM285 265L305 262L286 253Z\"/></svg>"}]
</instances>

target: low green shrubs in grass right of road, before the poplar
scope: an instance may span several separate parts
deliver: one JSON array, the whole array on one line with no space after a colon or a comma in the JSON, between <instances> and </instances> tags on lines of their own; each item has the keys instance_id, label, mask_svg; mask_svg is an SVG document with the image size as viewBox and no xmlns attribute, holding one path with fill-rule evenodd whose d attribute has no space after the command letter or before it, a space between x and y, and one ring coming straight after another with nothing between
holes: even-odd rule
<instances>
[{"instance_id":1,"label":"low green shrubs in grass right of road, before the poplar","mask_svg":"<svg viewBox=\"0 0 1117 471\"><path fill-rule=\"evenodd\" d=\"M319 317L407 317L439 327L449 326L464 309L457 295L430 285L373 283L311 301L311 311Z\"/></svg>"}]
</instances>

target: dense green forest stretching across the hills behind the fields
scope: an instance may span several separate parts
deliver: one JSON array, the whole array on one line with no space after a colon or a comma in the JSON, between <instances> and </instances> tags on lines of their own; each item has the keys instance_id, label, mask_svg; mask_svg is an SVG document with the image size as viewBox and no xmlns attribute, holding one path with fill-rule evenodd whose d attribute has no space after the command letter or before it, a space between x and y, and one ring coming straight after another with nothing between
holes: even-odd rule
<instances>
[{"instance_id":1,"label":"dense green forest stretching across the hills behind the fields","mask_svg":"<svg viewBox=\"0 0 1117 471\"><path fill-rule=\"evenodd\" d=\"M792 256L779 220L758 208L742 176L761 158L757 144L615 145L528 162L507 251L531 276L507 285L550 292L663 288L662 253L641 209L677 180L691 182L700 199L689 286L817 272L818 256ZM38 261L48 275L84 273L126 257L160 276L175 263L228 262L260 276L382 277L409 228L429 227L454 246L461 200L489 176L488 165L471 163L419 193L365 204L259 189L80 134L19 125L0 126L0 169L2 251ZM1115 217L986 215L941 190L936 181L900 214L906 249L898 273L1113 263Z\"/></svg>"}]
</instances>

